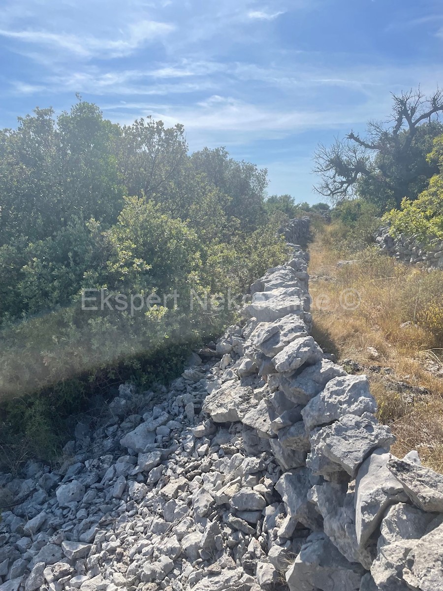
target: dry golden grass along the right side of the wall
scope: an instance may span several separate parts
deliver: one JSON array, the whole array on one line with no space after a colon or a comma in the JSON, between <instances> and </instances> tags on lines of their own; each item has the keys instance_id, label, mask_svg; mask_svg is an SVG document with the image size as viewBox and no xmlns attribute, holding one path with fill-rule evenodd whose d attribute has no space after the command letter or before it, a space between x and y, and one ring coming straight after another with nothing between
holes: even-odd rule
<instances>
[{"instance_id":1,"label":"dry golden grass along the right side of the wall","mask_svg":"<svg viewBox=\"0 0 443 591\"><path fill-rule=\"evenodd\" d=\"M443 379L425 368L426 359L442 365L438 314L443 272L430 279L375 251L354 254L350 258L357 262L340 267L343 256L331 249L327 232L318 233L310 248L313 335L339 360L392 369L389 376L368 372L379 419L397 437L392 452L402 456L416 449L424 465L443 472ZM426 307L426 298L436 302L438 314ZM368 348L377 350L376 360ZM395 388L396 381L426 388L429 394L404 394Z\"/></svg>"}]
</instances>

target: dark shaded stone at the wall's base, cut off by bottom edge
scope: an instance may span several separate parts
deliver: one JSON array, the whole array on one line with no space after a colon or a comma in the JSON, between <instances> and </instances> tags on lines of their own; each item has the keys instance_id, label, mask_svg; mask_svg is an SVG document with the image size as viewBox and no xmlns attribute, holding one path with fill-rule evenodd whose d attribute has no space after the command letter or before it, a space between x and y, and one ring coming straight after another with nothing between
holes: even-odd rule
<instances>
[{"instance_id":1,"label":"dark shaded stone at the wall's base, cut off by bottom edge","mask_svg":"<svg viewBox=\"0 0 443 591\"><path fill-rule=\"evenodd\" d=\"M312 534L286 572L289 591L359 591L364 569L350 563L325 534Z\"/></svg>"}]
</instances>

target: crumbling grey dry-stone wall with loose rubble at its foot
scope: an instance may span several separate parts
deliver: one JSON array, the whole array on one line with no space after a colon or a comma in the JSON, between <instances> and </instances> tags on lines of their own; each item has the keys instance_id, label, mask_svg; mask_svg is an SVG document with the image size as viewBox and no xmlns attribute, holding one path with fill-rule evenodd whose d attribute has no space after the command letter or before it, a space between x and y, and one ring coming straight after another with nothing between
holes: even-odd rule
<instances>
[{"instance_id":1,"label":"crumbling grey dry-stone wall with loose rubble at its foot","mask_svg":"<svg viewBox=\"0 0 443 591\"><path fill-rule=\"evenodd\" d=\"M0 591L443 589L443 476L309 335L307 261L169 389L121 385L60 469L0 475Z\"/></svg>"}]
</instances>

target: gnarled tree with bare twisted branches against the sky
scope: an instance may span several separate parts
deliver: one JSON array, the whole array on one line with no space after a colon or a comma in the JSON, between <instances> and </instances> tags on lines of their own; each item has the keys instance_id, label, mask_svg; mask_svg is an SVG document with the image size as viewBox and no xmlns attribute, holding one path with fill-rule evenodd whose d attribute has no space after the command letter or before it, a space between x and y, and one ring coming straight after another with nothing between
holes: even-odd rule
<instances>
[{"instance_id":1,"label":"gnarled tree with bare twisted branches against the sky","mask_svg":"<svg viewBox=\"0 0 443 591\"><path fill-rule=\"evenodd\" d=\"M437 171L426 154L443 131L437 121L442 91L426 97L411 90L392 97L390 121L370 121L363 138L351 131L329 148L318 146L314 172L321 181L315 189L333 203L359 196L381 211L399 207L405 196L416 199Z\"/></svg>"}]
</instances>

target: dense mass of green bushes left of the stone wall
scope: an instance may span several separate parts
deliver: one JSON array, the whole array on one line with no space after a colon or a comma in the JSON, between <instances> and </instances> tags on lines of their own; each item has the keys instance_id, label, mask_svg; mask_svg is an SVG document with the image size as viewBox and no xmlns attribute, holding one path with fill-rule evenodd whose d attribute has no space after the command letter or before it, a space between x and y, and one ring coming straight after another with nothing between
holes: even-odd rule
<instances>
[{"instance_id":1,"label":"dense mass of green bushes left of the stone wall","mask_svg":"<svg viewBox=\"0 0 443 591\"><path fill-rule=\"evenodd\" d=\"M0 131L0 446L50 457L94 394L165 381L219 334L220 296L286 255L266 185L224 148L188 155L181 125L81 99Z\"/></svg>"}]
</instances>

